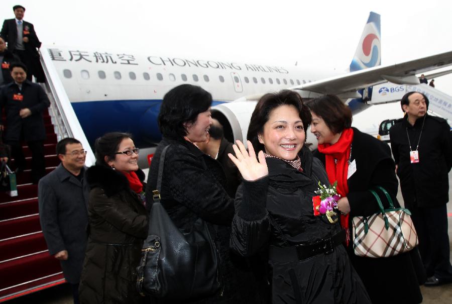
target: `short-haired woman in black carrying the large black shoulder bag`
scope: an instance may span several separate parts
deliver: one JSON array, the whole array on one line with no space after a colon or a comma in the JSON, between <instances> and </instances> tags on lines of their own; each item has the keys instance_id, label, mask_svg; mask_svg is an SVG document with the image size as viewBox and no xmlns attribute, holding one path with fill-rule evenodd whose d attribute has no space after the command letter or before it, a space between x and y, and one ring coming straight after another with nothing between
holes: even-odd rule
<instances>
[{"instance_id":1,"label":"short-haired woman in black carrying the large black shoulder bag","mask_svg":"<svg viewBox=\"0 0 452 304\"><path fill-rule=\"evenodd\" d=\"M260 285L256 277L263 283L266 278L253 270L262 271L265 264L259 267L253 264L259 263L257 259L247 260L231 252L229 236L234 198L225 189L226 178L220 163L193 144L207 138L212 124L211 104L212 95L191 84L179 85L163 97L158 117L163 139L149 170L146 207L152 206L162 150L170 145L164 159L161 204L182 231L190 231L198 219L205 221L219 253L219 279L223 284L215 294L178 303L262 303L267 298L265 285ZM167 301L156 299L155 302Z\"/></svg>"}]
</instances>

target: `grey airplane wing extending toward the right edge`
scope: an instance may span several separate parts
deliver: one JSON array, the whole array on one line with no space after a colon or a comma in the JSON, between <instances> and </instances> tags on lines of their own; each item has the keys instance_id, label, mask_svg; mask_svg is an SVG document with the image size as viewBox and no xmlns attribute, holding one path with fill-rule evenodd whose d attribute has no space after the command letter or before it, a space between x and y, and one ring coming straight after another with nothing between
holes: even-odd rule
<instances>
[{"instance_id":1,"label":"grey airplane wing extending toward the right edge","mask_svg":"<svg viewBox=\"0 0 452 304\"><path fill-rule=\"evenodd\" d=\"M390 81L397 84L418 84L415 74L427 72L452 64L452 51L423 57L393 65L376 66L344 75L308 82L290 89L356 97L360 88Z\"/></svg>"}]
</instances>

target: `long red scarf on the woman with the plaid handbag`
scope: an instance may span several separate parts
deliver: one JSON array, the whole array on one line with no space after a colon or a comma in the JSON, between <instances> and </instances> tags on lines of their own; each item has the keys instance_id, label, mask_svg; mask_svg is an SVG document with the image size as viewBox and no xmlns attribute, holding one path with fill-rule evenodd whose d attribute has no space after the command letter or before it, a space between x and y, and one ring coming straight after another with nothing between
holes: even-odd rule
<instances>
[{"instance_id":1,"label":"long red scarf on the woman with the plaid handbag","mask_svg":"<svg viewBox=\"0 0 452 304\"><path fill-rule=\"evenodd\" d=\"M350 149L353 141L353 129L345 129L339 140L331 144L319 144L318 151L325 154L326 174L332 184L337 180L337 193L346 197L349 193L347 172L349 171ZM334 160L337 160L334 162ZM349 215L341 216L341 226L347 232L347 246L350 242Z\"/></svg>"}]
</instances>

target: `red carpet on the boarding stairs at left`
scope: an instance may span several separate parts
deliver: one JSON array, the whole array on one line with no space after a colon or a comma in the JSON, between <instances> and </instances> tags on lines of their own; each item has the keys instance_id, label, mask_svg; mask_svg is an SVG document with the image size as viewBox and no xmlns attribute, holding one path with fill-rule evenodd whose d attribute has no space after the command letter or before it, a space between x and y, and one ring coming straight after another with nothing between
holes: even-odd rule
<instances>
[{"instance_id":1,"label":"red carpet on the boarding stairs at left","mask_svg":"<svg viewBox=\"0 0 452 304\"><path fill-rule=\"evenodd\" d=\"M60 163L57 136L50 116L44 116L46 172ZM18 196L0 192L0 302L61 284L60 262L48 252L38 214L38 186L31 182L31 153L23 143L27 166L17 174ZM11 162L14 170L14 159Z\"/></svg>"}]
</instances>

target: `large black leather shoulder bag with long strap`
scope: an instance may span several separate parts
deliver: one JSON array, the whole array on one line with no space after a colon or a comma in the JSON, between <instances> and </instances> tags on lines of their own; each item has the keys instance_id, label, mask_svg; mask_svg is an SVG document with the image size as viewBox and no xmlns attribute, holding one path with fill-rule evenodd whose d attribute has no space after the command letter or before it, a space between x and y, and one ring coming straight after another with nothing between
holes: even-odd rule
<instances>
[{"instance_id":1,"label":"large black leather shoulder bag with long strap","mask_svg":"<svg viewBox=\"0 0 452 304\"><path fill-rule=\"evenodd\" d=\"M209 296L222 284L218 252L205 222L198 219L191 231L180 231L160 204L163 164L168 147L163 149L160 157L148 237L137 268L137 289L143 296L163 299Z\"/></svg>"}]
</instances>

